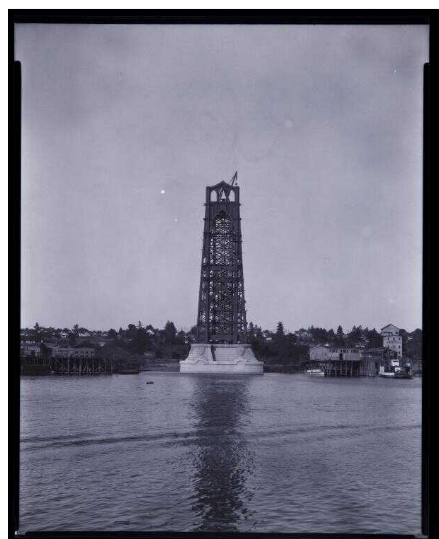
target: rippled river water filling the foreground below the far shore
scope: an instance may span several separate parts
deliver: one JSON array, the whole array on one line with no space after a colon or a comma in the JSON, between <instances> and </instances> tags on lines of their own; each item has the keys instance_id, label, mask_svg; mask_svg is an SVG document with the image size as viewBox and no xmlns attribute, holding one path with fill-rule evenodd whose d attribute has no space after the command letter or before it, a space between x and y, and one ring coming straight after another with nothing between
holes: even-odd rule
<instances>
[{"instance_id":1,"label":"rippled river water filling the foreground below the far shore","mask_svg":"<svg viewBox=\"0 0 439 539\"><path fill-rule=\"evenodd\" d=\"M20 428L20 532L421 531L420 378L23 377Z\"/></svg>"}]
</instances>

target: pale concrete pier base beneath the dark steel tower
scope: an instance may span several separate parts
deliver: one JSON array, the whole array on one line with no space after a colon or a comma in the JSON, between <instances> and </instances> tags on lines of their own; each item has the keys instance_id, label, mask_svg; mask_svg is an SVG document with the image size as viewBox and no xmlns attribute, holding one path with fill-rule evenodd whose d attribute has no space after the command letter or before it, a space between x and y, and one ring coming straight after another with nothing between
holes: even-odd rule
<instances>
[{"instance_id":1,"label":"pale concrete pier base beneath the dark steel tower","mask_svg":"<svg viewBox=\"0 0 439 539\"><path fill-rule=\"evenodd\" d=\"M264 374L250 344L194 343L187 359L180 361L181 373Z\"/></svg>"}]
</instances>

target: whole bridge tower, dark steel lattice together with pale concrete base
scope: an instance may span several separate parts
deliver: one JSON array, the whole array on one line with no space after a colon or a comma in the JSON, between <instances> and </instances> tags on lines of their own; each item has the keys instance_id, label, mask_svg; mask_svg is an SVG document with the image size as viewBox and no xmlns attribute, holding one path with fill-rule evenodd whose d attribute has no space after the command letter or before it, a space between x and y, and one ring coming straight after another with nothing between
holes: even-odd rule
<instances>
[{"instance_id":1,"label":"whole bridge tower, dark steel lattice together with pale concrete base","mask_svg":"<svg viewBox=\"0 0 439 539\"><path fill-rule=\"evenodd\" d=\"M206 187L197 342L180 361L183 373L263 374L246 343L247 321L242 266L239 187L230 183Z\"/></svg>"}]
</instances>

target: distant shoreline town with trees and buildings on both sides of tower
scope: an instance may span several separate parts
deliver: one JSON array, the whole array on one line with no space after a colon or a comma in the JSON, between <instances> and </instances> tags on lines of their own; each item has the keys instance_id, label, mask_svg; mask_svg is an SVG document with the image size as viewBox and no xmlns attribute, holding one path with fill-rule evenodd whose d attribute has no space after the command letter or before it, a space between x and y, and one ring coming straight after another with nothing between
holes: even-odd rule
<instances>
[{"instance_id":1,"label":"distant shoreline town with trees and buildings on both sides of tower","mask_svg":"<svg viewBox=\"0 0 439 539\"><path fill-rule=\"evenodd\" d=\"M162 329L142 322L128 324L125 329L92 331L79 324L73 328L43 327L20 330L21 358L96 358L136 361L141 368L174 370L185 359L196 340L196 327L177 331L166 322ZM339 325L333 329L311 326L290 332L282 322L274 331L262 329L250 322L247 340L258 359L264 361L266 372L297 372L310 362L331 357L358 357L358 354L379 358L397 358L410 362L422 372L422 330L411 333L389 324L380 331L354 326L345 332ZM355 356L357 354L357 356Z\"/></svg>"}]
</instances>

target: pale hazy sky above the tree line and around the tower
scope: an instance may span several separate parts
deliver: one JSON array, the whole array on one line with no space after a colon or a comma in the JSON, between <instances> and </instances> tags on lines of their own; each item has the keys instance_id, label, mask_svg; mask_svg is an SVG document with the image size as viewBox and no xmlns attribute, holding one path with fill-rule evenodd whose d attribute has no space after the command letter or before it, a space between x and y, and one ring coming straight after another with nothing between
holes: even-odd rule
<instances>
[{"instance_id":1,"label":"pale hazy sky above the tree line and around the tower","mask_svg":"<svg viewBox=\"0 0 439 539\"><path fill-rule=\"evenodd\" d=\"M196 323L238 171L247 320L422 327L428 27L18 24L21 324Z\"/></svg>"}]
</instances>

